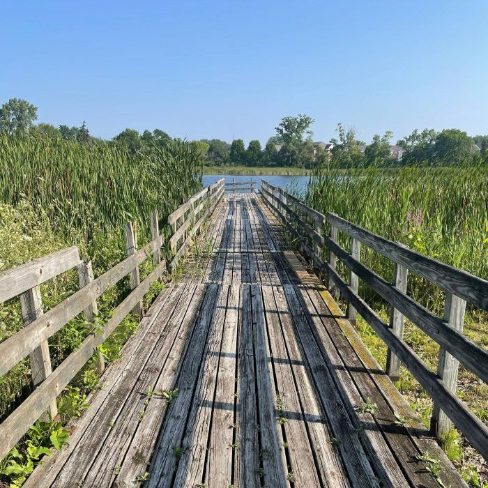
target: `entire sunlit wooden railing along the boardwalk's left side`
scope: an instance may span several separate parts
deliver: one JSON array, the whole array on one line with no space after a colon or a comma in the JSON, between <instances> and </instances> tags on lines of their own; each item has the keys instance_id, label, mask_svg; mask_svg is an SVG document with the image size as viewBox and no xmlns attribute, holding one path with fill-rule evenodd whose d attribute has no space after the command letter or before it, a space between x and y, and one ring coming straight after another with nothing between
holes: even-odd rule
<instances>
[{"instance_id":1,"label":"entire sunlit wooden railing along the boardwalk's left side","mask_svg":"<svg viewBox=\"0 0 488 488\"><path fill-rule=\"evenodd\" d=\"M183 255L188 241L195 236L201 222L211 213L222 193L223 180L220 180L215 185L201 190L171 213L168 222L171 223L175 234L169 242L176 249L171 264L174 264L176 256ZM197 222L193 222L197 218ZM180 219L183 222L178 227L177 222ZM0 274L0 304L18 296L24 319L24 328L0 343L0 376L29 356L33 386L36 387L0 424L0 459L6 456L36 420L49 420L56 416L56 397L131 310L142 316L144 295L153 282L167 271L166 261L161 259L160 254L165 238L160 235L158 215L155 212L151 215L151 238L150 243L138 250L136 224L128 222L125 226L127 258L96 279L93 279L91 262L86 263L79 258L76 246L34 259ZM181 239L183 243L178 245ZM152 258L155 268L141 282L139 265L148 257ZM43 313L40 284L73 268L77 268L78 271L79 290ZM52 370L47 344L49 337L81 312L84 312L87 320L94 321L98 313L97 298L129 274L131 291L116 307L112 317L101 330L97 330L96 333L93 330L75 351Z\"/></svg>"}]
</instances>

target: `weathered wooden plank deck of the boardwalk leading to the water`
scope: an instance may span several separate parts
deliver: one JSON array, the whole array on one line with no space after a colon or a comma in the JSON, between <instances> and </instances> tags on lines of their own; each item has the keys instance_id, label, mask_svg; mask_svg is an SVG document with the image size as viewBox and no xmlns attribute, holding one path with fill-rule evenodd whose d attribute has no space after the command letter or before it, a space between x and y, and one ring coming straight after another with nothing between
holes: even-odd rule
<instances>
[{"instance_id":1,"label":"weathered wooden plank deck of the boardwalk leading to the water","mask_svg":"<svg viewBox=\"0 0 488 488\"><path fill-rule=\"evenodd\" d=\"M26 487L465 486L259 194L202 235Z\"/></svg>"}]
</instances>

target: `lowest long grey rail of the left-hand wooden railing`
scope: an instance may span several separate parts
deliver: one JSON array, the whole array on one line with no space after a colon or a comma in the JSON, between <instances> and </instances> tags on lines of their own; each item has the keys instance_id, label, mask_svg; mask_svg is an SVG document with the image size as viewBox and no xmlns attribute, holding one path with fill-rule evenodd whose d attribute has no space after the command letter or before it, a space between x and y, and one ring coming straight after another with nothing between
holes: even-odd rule
<instances>
[{"instance_id":1,"label":"lowest long grey rail of the left-hand wooden railing","mask_svg":"<svg viewBox=\"0 0 488 488\"><path fill-rule=\"evenodd\" d=\"M86 361L91 358L97 346L107 339L116 326L130 312L138 300L147 293L154 280L157 280L164 270L166 263L162 261L160 266L146 277L146 279L127 296L114 311L112 317L105 323L101 333L91 334L82 342L82 345L68 358L63 360L54 372L49 374L43 383L34 390L24 402L0 424L3 436L0 439L0 459L5 457L10 448L24 435L31 425L47 409L52 399L57 397L61 390L73 379ZM95 283L93 281L92 283ZM90 285L89 285L90 286ZM86 287L85 287L86 288ZM47 314L45 314L47 315ZM42 318L42 317L41 317Z\"/></svg>"}]
</instances>

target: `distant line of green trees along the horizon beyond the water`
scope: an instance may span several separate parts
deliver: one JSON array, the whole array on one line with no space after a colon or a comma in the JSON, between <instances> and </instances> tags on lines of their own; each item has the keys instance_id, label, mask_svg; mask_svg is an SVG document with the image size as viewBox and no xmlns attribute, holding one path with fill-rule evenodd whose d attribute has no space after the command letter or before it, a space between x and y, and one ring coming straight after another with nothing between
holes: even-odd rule
<instances>
[{"instance_id":1,"label":"distant line of green trees along the horizon beyond the water","mask_svg":"<svg viewBox=\"0 0 488 488\"><path fill-rule=\"evenodd\" d=\"M49 123L34 124L37 107L19 98L11 98L0 108L0 132L17 136L52 137L82 144L103 142L125 146L128 151L146 151L155 145L181 142L160 129L139 133L127 128L110 141L92 137L85 121L79 127ZM460 165L472 160L488 160L488 135L470 137L459 129L414 130L411 135L392 145L393 133L374 135L366 144L357 137L354 128L337 125L337 137L330 143L314 142L311 126L314 119L305 114L284 117L275 127L275 135L264 148L257 139L245 147L243 139L229 144L221 139L201 139L189 144L197 153L201 165L248 167L300 167L319 165L335 167L400 166L412 164Z\"/></svg>"}]
</instances>

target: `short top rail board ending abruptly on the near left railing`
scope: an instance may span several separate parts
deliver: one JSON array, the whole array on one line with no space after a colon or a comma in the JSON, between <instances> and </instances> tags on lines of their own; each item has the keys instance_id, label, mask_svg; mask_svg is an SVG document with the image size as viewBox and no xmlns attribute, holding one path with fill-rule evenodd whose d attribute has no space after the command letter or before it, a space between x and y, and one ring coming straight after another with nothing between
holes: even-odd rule
<instances>
[{"instance_id":1,"label":"short top rail board ending abruptly on the near left railing","mask_svg":"<svg viewBox=\"0 0 488 488\"><path fill-rule=\"evenodd\" d=\"M73 245L0 273L0 303L20 295L82 262Z\"/></svg>"}]
</instances>

